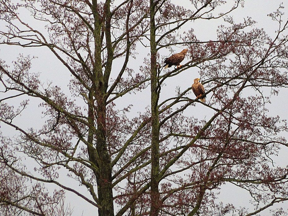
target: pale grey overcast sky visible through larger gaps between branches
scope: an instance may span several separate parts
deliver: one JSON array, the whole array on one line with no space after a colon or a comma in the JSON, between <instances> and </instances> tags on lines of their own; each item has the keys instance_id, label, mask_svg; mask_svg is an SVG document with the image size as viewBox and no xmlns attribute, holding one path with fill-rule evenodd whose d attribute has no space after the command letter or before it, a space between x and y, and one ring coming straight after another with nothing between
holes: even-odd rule
<instances>
[{"instance_id":1,"label":"pale grey overcast sky visible through larger gaps between branches","mask_svg":"<svg viewBox=\"0 0 288 216\"><path fill-rule=\"evenodd\" d=\"M176 4L182 5L183 7L189 9L191 8L190 1L173 1ZM227 1L233 2L233 1ZM273 1L261 1L261 0L247 0L245 1L244 8L239 7L235 11L231 12L231 16L235 19L236 22L242 22L244 18L251 17L253 20L257 21L255 24L255 27L257 28L263 28L266 33L269 36L275 35L275 30L277 29L277 26L274 25L275 22L273 22L270 17L267 16L267 14L277 10L278 6L280 5L282 1L279 0L273 0ZM284 6L286 7L285 10L288 9L288 1L284 3ZM23 11L25 12L25 11ZM220 12L220 11L219 11ZM46 31L43 24L39 21L33 20L28 12L21 13L20 16L24 17L25 20L29 23L33 22L33 27L40 29L41 31ZM285 14L285 17L287 18L287 14ZM219 25L223 24L223 19L217 19L217 20L197 20L195 22L189 22L187 23L183 28L181 28L183 31L186 29L193 28L194 33L198 37L198 39L207 41L207 40L213 40L216 39L217 34L216 30ZM0 29L2 27L0 26ZM134 60L131 58L129 60L128 67L133 68L135 72L137 72L137 69L139 66L143 63L144 57L147 57L147 53L149 52L149 48L144 48L140 44L137 45L138 48L138 55L136 56L136 59ZM175 46L175 52L181 51L185 47L176 47ZM161 49L160 55L168 55L168 50ZM0 59L5 60L6 64L11 64L13 60L15 60L19 53L22 53L24 55L31 55L31 56L37 56L37 59L32 61L32 68L31 71L41 73L41 80L43 82L46 82L47 80L53 82L54 85L61 86L64 93L69 93L68 83L71 79L71 76L66 68L64 68L63 64L59 62L59 60L56 59L55 56L50 54L50 51L45 48L21 48L16 46L0 46ZM182 63L185 64L185 62L188 61L186 58ZM117 64L113 64L113 70L115 74L118 72ZM192 85L192 82L194 78L199 77L199 68L191 68L186 70L185 72L179 74L178 76L174 78L167 79L167 82L165 83L166 86L162 87L161 90L161 97L159 102L162 102L163 99L166 99L168 97L174 96L175 89L177 86L181 87L181 90L185 90L189 88ZM204 86L205 87L205 86ZM269 94L269 90L265 90L266 94ZM287 90L283 89L280 91L279 95L272 95L271 96L271 104L268 105L269 109L269 115L276 116L279 115L281 119L287 119ZM209 103L209 98L212 94L207 95L207 101ZM191 98L194 98L194 94L190 94ZM2 95L0 93L0 98L2 98ZM10 100L11 104L15 104L15 107L17 107L19 104L18 99L12 99ZM24 112L22 113L22 116L20 118L17 118L15 122L17 122L20 126L23 128L40 128L42 124L44 123L45 119L41 118L41 108L38 107L40 101L37 99L31 99L29 106ZM144 112L145 107L149 107L150 104L150 87L143 90L142 92L138 92L136 95L125 95L121 97L120 99L116 100L117 107L121 108L124 106L127 106L129 104L133 104L133 107L131 109L131 112L128 113L128 116L130 118L137 116L137 112ZM205 112L207 111L207 112ZM202 114L199 114L202 113ZM203 119L206 117L206 119L210 118L210 115L212 112L208 110L207 108L203 108L201 104L197 103L195 107L189 107L185 110L185 115L188 116L197 116L199 119ZM11 128L8 128L7 126L0 123L0 130L3 132L3 135L7 136L13 136L15 135L15 130L11 130ZM287 134L283 134L288 138ZM286 166L288 164L288 157L287 157L288 151L286 149L282 149L279 153L279 157L276 160L276 165ZM281 160L279 160L281 159ZM25 161L25 165L29 167L29 165L33 165L33 161ZM31 163L31 164L30 164ZM61 177L62 182L66 182L67 178L64 176ZM60 181L60 182L61 182ZM68 180L71 181L71 180ZM81 190L85 193L86 189L79 188L79 185L75 183L75 181L71 181L71 186L76 188L77 190ZM52 190L55 188L53 185L49 185L48 189ZM242 207L251 207L251 204L249 204L249 194L247 191L240 190L239 188L226 184L221 188L219 191L220 195L218 198L218 201L222 201L223 203L232 203L235 206L242 206ZM86 193L88 194L88 193ZM93 208L91 205L89 205L87 202L82 201L80 198L75 196L74 194L71 194L70 192L66 193L67 202L70 202L71 207L75 206L73 215L95 215L97 209ZM81 205L79 205L81 204ZM279 206L281 204L278 204ZM287 210L287 204L281 205L284 209ZM253 207L251 211L253 210ZM261 215L269 215L268 210L261 213Z\"/></svg>"}]
</instances>

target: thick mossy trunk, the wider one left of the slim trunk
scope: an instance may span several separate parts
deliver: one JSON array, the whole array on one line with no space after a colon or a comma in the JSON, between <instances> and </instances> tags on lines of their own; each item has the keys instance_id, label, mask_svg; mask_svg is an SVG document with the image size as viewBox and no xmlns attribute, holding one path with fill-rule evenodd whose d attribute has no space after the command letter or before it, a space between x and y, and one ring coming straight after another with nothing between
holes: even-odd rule
<instances>
[{"instance_id":1,"label":"thick mossy trunk, the wider one left of the slim trunk","mask_svg":"<svg viewBox=\"0 0 288 216\"><path fill-rule=\"evenodd\" d=\"M95 98L97 105L97 133L96 133L96 149L94 148L94 154L98 158L97 165L99 167L99 173L96 174L97 192L98 192L98 215L99 216L114 216L114 204L113 204L113 190L112 190L112 166L111 158L107 149L106 142L106 93L109 80L109 74L111 72L111 62L113 60L113 51L111 51L111 35L110 35L110 1L105 2L105 20L106 23L99 18L97 1L93 1L93 13L94 13L94 40L95 40L95 68L94 76L95 82ZM108 56L105 73L103 75L102 60L101 60L101 31L105 26L105 35L107 42ZM92 79L93 81L93 79ZM94 104L93 104L94 106ZM88 149L89 153L89 149ZM90 154L89 154L90 157ZM90 159L90 158L89 158Z\"/></svg>"}]
</instances>

